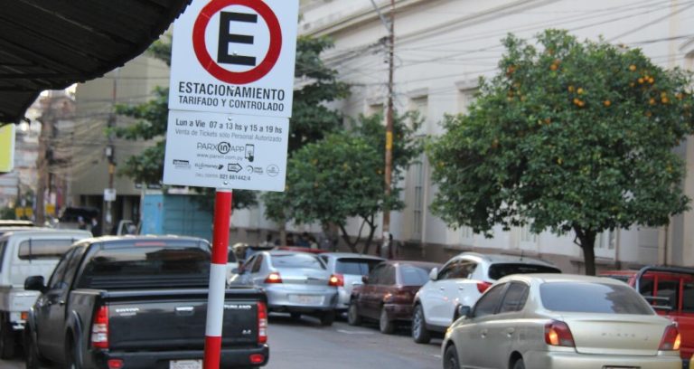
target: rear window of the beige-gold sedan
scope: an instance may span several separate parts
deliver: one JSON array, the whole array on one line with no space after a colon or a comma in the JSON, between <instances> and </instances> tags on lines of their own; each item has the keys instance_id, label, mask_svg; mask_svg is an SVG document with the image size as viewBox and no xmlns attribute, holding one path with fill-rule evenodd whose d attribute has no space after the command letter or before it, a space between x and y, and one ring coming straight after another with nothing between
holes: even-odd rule
<instances>
[{"instance_id":1,"label":"rear window of the beige-gold sedan","mask_svg":"<svg viewBox=\"0 0 694 369\"><path fill-rule=\"evenodd\" d=\"M572 313L653 315L648 303L631 287L611 283L551 282L539 286L548 310Z\"/></svg>"}]
</instances>

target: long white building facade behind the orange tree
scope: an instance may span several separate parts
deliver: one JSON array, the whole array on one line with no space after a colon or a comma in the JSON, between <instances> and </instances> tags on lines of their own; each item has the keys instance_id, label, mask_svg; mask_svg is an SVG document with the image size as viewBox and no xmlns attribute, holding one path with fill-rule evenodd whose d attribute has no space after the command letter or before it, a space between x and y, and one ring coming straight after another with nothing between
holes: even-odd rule
<instances>
[{"instance_id":1,"label":"long white building facade behind the orange tree","mask_svg":"<svg viewBox=\"0 0 694 369\"><path fill-rule=\"evenodd\" d=\"M329 36L335 43L324 60L352 85L352 96L336 105L349 116L379 111L388 99L390 3L314 0L302 6L300 32ZM466 111L479 77L496 73L501 40L507 33L532 40L548 28L566 29L579 39L602 36L610 43L642 48L665 68L691 68L694 60L694 33L687 26L694 21L694 9L674 0L396 0L394 4L395 107L417 110L426 118L422 136L441 135L439 122L445 114ZM694 141L689 139L677 150L687 159L683 187L694 198ZM392 214L391 232L403 257L446 260L474 250L533 255L566 271L583 269L582 252L571 234L558 237L533 234L527 227L509 232L498 228L492 239L485 239L469 228L446 226L429 210L436 194L430 174L427 157L422 156L402 184L408 207ZM694 213L689 212L661 229L634 225L605 232L596 241L597 267L694 265L692 221Z\"/></svg>"}]
</instances>

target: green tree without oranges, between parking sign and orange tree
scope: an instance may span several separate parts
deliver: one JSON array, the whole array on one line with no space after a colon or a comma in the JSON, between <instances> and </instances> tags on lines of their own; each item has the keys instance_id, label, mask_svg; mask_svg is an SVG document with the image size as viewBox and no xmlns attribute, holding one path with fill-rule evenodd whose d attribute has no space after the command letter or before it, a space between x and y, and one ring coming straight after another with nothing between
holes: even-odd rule
<instances>
[{"instance_id":1,"label":"green tree without oranges, between parking sign and orange tree","mask_svg":"<svg viewBox=\"0 0 694 369\"><path fill-rule=\"evenodd\" d=\"M389 203L389 209L405 207L399 199L398 186L412 160L422 150L415 137L420 125L416 113L396 115L394 119L393 188L387 198L383 191L383 157L385 156L385 127L382 115L360 116L351 130L334 133L323 140L305 145L295 152L287 165L286 209L297 223L320 222L336 224L342 240L353 252L362 241L367 227L362 253L369 253L374 232L378 227L376 214ZM350 218L361 222L352 239L346 225Z\"/></svg>"}]
</instances>

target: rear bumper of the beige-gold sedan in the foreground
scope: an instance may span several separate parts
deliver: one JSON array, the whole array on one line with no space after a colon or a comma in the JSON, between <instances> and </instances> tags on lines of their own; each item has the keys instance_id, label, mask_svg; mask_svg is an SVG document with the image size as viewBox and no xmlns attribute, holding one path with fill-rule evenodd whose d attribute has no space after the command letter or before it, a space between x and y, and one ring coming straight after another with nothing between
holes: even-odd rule
<instances>
[{"instance_id":1,"label":"rear bumper of the beige-gold sedan in the foreground","mask_svg":"<svg viewBox=\"0 0 694 369\"><path fill-rule=\"evenodd\" d=\"M527 368L561 369L681 369L682 360L676 353L654 356L582 355L569 352L528 352L523 355Z\"/></svg>"}]
</instances>

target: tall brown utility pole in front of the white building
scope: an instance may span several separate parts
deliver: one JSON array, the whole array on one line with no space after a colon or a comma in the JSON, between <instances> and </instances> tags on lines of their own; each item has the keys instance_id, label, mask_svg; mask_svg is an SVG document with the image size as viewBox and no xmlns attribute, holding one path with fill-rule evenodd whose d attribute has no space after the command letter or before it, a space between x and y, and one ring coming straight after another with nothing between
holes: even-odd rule
<instances>
[{"instance_id":1,"label":"tall brown utility pole in front of the white building","mask_svg":"<svg viewBox=\"0 0 694 369\"><path fill-rule=\"evenodd\" d=\"M388 110L386 112L386 167L385 187L386 199L390 197L391 182L393 180L393 70L395 53L395 0L390 0L390 22L388 34ZM383 246L388 258L392 258L393 252L390 244L390 206L387 201L383 206Z\"/></svg>"}]
</instances>

